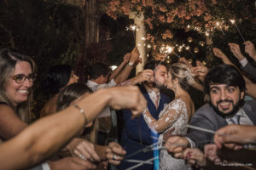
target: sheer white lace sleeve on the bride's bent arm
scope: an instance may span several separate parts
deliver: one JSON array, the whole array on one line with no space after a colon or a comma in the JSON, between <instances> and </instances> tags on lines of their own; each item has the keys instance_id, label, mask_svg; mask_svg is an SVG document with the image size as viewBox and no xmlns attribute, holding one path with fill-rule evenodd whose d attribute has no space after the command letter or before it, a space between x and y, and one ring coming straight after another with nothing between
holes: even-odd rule
<instances>
[{"instance_id":1,"label":"sheer white lace sleeve on the bride's bent arm","mask_svg":"<svg viewBox=\"0 0 256 170\"><path fill-rule=\"evenodd\" d=\"M167 127L172 126L172 123L177 120L183 110L184 105L185 104L181 99L177 99L166 105L165 109L160 113L162 116L159 118L159 120L154 119L148 110L143 112L143 118L151 130L161 133L166 130Z\"/></svg>"}]
</instances>

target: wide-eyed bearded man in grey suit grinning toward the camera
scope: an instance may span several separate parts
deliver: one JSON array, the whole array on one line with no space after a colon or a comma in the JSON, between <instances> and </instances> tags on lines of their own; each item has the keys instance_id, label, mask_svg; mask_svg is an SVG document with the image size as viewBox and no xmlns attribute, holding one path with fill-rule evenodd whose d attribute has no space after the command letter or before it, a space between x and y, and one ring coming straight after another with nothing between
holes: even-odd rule
<instances>
[{"instance_id":1,"label":"wide-eyed bearded man in grey suit grinning toward the camera","mask_svg":"<svg viewBox=\"0 0 256 170\"><path fill-rule=\"evenodd\" d=\"M233 65L218 65L205 77L205 92L210 101L195 111L190 125L217 131L229 124L256 125L256 100L244 102L246 85ZM168 151L180 157L187 147L200 148L213 143L212 133L189 129L186 137L173 136L166 142ZM176 144L176 145L174 145ZM181 144L178 146L178 144Z\"/></svg>"}]
</instances>

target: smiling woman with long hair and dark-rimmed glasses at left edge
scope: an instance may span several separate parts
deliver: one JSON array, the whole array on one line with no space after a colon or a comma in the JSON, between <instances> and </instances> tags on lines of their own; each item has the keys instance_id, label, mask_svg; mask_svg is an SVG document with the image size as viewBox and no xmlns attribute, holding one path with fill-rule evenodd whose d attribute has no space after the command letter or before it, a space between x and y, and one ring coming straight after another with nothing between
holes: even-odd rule
<instances>
[{"instance_id":1,"label":"smiling woman with long hair and dark-rimmed glasses at left edge","mask_svg":"<svg viewBox=\"0 0 256 170\"><path fill-rule=\"evenodd\" d=\"M0 101L9 105L20 119L29 122L28 108L36 65L32 58L9 49L0 51Z\"/></svg>"}]
</instances>

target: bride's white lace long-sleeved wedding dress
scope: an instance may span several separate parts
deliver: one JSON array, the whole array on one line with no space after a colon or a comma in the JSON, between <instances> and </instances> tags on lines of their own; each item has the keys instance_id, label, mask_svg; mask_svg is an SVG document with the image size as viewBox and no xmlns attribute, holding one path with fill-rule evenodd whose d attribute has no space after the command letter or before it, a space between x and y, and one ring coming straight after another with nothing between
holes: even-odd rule
<instances>
[{"instance_id":1,"label":"bride's white lace long-sleeved wedding dress","mask_svg":"<svg viewBox=\"0 0 256 170\"><path fill-rule=\"evenodd\" d=\"M154 132L160 133L159 142L162 145L163 134L175 128L173 135L185 135L188 131L188 113L185 102L182 99L175 99L171 103L165 105L163 111L160 112L159 120L143 113L145 122ZM164 129L163 129L164 128ZM160 150L160 170L186 170L190 169L183 159L172 157L167 150Z\"/></svg>"}]
</instances>

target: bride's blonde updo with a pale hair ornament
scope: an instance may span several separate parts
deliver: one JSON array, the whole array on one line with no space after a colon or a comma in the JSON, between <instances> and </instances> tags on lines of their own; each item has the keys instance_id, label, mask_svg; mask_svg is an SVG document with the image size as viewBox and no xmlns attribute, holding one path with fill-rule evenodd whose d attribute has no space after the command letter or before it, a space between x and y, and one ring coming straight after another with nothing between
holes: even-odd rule
<instances>
[{"instance_id":1,"label":"bride's blonde updo with a pale hair ornament","mask_svg":"<svg viewBox=\"0 0 256 170\"><path fill-rule=\"evenodd\" d=\"M177 78L179 85L183 90L188 90L189 85L195 82L193 73L191 72L188 65L183 63L175 63L170 66L169 69L172 79Z\"/></svg>"}]
</instances>

